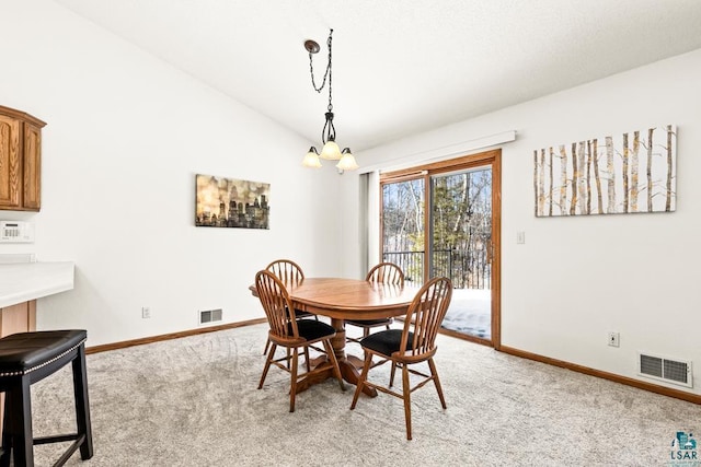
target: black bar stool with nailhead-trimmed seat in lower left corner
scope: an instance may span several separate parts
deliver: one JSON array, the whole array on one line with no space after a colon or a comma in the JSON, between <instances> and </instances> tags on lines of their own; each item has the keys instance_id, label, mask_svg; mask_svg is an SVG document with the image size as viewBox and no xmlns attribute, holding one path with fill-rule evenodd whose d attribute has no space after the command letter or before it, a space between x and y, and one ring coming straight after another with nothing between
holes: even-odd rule
<instances>
[{"instance_id":1,"label":"black bar stool with nailhead-trimmed seat in lower left corner","mask_svg":"<svg viewBox=\"0 0 701 467\"><path fill-rule=\"evenodd\" d=\"M55 466L62 466L80 447L80 457L92 457L92 430L85 373L84 330L19 332L0 339L0 392L5 393L0 466L34 466L34 445L73 441ZM73 367L77 432L34 437L30 386L60 370Z\"/></svg>"}]
</instances>

